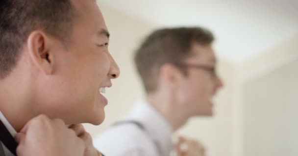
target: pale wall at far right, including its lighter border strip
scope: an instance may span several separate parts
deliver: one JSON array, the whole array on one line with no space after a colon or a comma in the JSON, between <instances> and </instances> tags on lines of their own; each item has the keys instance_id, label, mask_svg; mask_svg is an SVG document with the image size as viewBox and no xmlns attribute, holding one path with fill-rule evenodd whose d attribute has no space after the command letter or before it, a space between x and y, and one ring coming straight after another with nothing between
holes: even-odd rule
<instances>
[{"instance_id":1,"label":"pale wall at far right, including its lighter border strip","mask_svg":"<svg viewBox=\"0 0 298 156\"><path fill-rule=\"evenodd\" d=\"M232 156L266 156L269 153L262 152L273 151L283 156L294 156L293 152L297 155L291 149L298 145L295 132L274 127L275 124L292 130L298 128L297 122L289 117L298 118L291 112L298 108L297 43L298 34L236 68ZM270 119L268 114L272 115ZM273 139L268 141L269 137ZM287 147L279 147L279 143Z\"/></svg>"}]
</instances>

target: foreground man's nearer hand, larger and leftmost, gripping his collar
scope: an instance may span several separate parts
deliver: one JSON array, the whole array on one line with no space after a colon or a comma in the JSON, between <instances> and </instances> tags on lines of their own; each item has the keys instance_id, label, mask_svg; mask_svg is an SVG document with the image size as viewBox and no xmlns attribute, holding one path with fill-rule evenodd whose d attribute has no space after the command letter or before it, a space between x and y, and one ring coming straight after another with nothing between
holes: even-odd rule
<instances>
[{"instance_id":1,"label":"foreground man's nearer hand, larger and leftmost, gripping his collar","mask_svg":"<svg viewBox=\"0 0 298 156\"><path fill-rule=\"evenodd\" d=\"M83 156L84 141L63 120L40 115L18 133L18 156Z\"/></svg>"}]
</instances>

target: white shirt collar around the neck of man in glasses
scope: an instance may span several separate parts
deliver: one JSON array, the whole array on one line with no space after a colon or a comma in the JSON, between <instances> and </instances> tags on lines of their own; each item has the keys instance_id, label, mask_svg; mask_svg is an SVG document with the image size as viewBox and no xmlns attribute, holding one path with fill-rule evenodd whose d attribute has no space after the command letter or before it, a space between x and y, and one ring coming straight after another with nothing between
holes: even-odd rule
<instances>
[{"instance_id":1,"label":"white shirt collar around the neck of man in glasses","mask_svg":"<svg viewBox=\"0 0 298 156\"><path fill-rule=\"evenodd\" d=\"M149 103L144 101L137 102L127 119L141 122L149 137L161 146L164 154L171 151L174 130L165 117L158 113Z\"/></svg>"}]
</instances>

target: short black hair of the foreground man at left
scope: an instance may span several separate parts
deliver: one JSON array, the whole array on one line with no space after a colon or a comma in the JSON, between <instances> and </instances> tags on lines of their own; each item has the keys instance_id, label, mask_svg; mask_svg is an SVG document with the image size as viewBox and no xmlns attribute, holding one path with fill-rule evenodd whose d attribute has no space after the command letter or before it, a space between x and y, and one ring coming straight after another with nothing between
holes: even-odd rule
<instances>
[{"instance_id":1,"label":"short black hair of the foreground man at left","mask_svg":"<svg viewBox=\"0 0 298 156\"><path fill-rule=\"evenodd\" d=\"M32 31L65 39L74 10L71 0L0 0L0 79L16 66Z\"/></svg>"}]
</instances>

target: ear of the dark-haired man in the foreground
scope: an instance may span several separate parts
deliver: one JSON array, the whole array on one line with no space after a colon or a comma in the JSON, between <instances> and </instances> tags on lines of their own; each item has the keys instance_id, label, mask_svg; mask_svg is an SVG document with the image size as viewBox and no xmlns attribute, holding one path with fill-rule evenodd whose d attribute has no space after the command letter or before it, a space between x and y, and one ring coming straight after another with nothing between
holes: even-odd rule
<instances>
[{"instance_id":1,"label":"ear of the dark-haired man in the foreground","mask_svg":"<svg viewBox=\"0 0 298 156\"><path fill-rule=\"evenodd\" d=\"M46 75L52 74L54 70L54 54L50 51L52 39L44 32L36 30L27 40L28 53L32 62Z\"/></svg>"}]
</instances>

